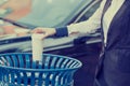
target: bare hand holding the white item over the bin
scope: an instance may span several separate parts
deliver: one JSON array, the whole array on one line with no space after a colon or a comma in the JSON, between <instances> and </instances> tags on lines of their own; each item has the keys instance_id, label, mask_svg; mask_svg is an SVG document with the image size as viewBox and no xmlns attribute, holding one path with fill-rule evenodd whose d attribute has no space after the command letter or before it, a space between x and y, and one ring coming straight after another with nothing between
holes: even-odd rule
<instances>
[{"instance_id":1,"label":"bare hand holding the white item over the bin","mask_svg":"<svg viewBox=\"0 0 130 86\"><path fill-rule=\"evenodd\" d=\"M56 30L55 30L55 28L38 27L38 28L35 28L34 30L31 30L31 33L42 33L43 34L42 38L47 38L50 35L54 35L56 33Z\"/></svg>"}]
</instances>

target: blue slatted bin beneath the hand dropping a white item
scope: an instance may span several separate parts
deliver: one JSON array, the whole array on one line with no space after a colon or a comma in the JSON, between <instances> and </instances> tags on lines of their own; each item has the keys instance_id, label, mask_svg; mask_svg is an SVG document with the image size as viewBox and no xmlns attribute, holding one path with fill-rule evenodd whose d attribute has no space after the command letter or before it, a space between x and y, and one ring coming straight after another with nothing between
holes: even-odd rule
<instances>
[{"instance_id":1,"label":"blue slatted bin beneath the hand dropping a white item","mask_svg":"<svg viewBox=\"0 0 130 86\"><path fill-rule=\"evenodd\" d=\"M0 86L73 86L82 63L74 58L43 54L34 61L30 53L0 54Z\"/></svg>"}]
</instances>

